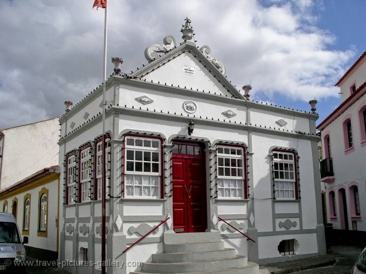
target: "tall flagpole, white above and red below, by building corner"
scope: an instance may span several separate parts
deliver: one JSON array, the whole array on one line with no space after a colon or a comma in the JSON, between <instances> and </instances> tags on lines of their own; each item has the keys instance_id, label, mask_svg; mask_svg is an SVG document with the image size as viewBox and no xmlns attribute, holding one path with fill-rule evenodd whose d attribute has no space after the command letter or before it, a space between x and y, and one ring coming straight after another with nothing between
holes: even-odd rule
<instances>
[{"instance_id":1,"label":"tall flagpole, white above and red below, by building corner","mask_svg":"<svg viewBox=\"0 0 366 274\"><path fill-rule=\"evenodd\" d=\"M102 274L106 273L106 237L105 237L105 223L106 223L106 162L105 162L105 107L106 107L106 81L107 81L107 6L104 9L104 54L103 54L103 136L102 136Z\"/></svg>"}]
</instances>

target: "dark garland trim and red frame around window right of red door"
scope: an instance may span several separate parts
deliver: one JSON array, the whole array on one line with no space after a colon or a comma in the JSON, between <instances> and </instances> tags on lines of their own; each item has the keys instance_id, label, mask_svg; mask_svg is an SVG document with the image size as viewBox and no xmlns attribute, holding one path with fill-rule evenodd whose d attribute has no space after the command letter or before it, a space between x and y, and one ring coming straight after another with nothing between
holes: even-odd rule
<instances>
[{"instance_id":1,"label":"dark garland trim and red frame around window right of red door","mask_svg":"<svg viewBox=\"0 0 366 274\"><path fill-rule=\"evenodd\" d=\"M247 147L244 145L239 145L239 144L226 144L226 143L216 143L216 193L217 193L217 199L218 200L246 200L248 199L248 158L247 158ZM235 158L242 158L243 160L243 178L235 178L233 180L242 180L243 186L243 196L242 197L227 197L227 196L221 196L219 197L219 180L220 179L229 179L226 176L219 176L219 153L218 153L218 149L219 147L227 147L227 148L240 148L242 150L242 157L235 157ZM228 157L230 158L230 154L222 154L222 155L229 155ZM221 178L220 178L221 177ZM225 177L225 178L224 178Z\"/></svg>"}]
</instances>

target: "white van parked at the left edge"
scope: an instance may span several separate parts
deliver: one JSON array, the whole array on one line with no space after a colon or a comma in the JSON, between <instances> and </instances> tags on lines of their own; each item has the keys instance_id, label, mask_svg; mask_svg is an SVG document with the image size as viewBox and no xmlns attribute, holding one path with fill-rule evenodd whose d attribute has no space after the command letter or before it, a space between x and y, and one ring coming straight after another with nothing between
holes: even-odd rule
<instances>
[{"instance_id":1,"label":"white van parked at the left edge","mask_svg":"<svg viewBox=\"0 0 366 274\"><path fill-rule=\"evenodd\" d=\"M14 216L0 213L0 273L14 268L17 272L24 270L24 267L16 266L16 262L26 260L23 244L28 243L28 237L24 236L22 241L20 235Z\"/></svg>"}]
</instances>

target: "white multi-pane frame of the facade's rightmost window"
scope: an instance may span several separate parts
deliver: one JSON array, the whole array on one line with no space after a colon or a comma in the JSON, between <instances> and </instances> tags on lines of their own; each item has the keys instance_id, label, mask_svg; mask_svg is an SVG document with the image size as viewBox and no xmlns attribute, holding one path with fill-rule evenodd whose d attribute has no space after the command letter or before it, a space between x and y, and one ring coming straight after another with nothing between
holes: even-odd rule
<instances>
[{"instance_id":1,"label":"white multi-pane frame of the facade's rightmost window","mask_svg":"<svg viewBox=\"0 0 366 274\"><path fill-rule=\"evenodd\" d=\"M297 169L296 169L296 155L293 152L285 152L279 150L272 151L272 172L273 172L273 190L275 191L276 200L296 200L296 184L297 184ZM283 155L281 158L275 158L275 154ZM284 156L286 155L286 156ZM292 157L292 160L289 160L289 155ZM287 159L285 159L287 158ZM277 164L277 168L276 168ZM288 170L285 169L285 164L288 164ZM293 165L293 170L290 170L290 165ZM280 166L284 168L281 169ZM281 177L281 172L283 173L283 178L276 178L276 174L278 173L278 177ZM288 173L288 179L285 179ZM291 173L293 174L293 179L291 179ZM287 186L287 187L286 187ZM293 188L291 188L293 187ZM280 197L280 191L284 191L284 197ZM286 191L289 193L289 197L286 196ZM293 197L290 197L290 191L293 192Z\"/></svg>"}]
</instances>

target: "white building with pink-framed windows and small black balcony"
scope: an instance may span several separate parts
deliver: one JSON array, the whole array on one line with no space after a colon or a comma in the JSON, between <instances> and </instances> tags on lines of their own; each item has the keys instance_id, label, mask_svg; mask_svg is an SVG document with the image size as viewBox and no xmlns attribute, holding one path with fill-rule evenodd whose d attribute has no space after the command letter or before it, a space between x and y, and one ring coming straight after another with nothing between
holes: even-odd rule
<instances>
[{"instance_id":1,"label":"white building with pink-framed windows and small black balcony","mask_svg":"<svg viewBox=\"0 0 366 274\"><path fill-rule=\"evenodd\" d=\"M318 125L328 222L366 231L366 52L338 81L342 103Z\"/></svg>"}]
</instances>

